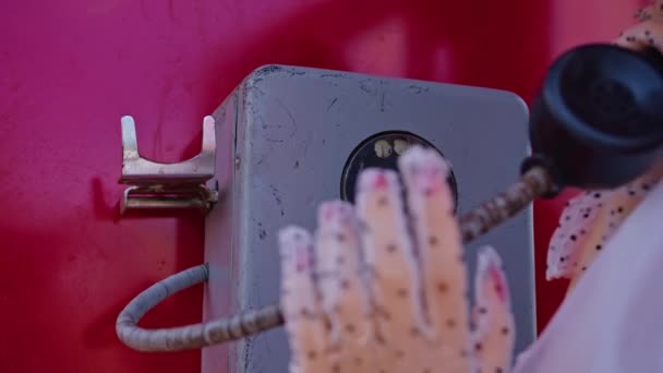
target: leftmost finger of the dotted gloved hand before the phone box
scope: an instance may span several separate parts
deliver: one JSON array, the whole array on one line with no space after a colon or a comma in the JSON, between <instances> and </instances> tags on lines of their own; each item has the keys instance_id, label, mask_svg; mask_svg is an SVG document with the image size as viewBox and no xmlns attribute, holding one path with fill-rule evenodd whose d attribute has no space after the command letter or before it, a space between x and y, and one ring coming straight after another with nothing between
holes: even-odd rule
<instances>
[{"instance_id":1,"label":"leftmost finger of the dotted gloved hand before the phone box","mask_svg":"<svg viewBox=\"0 0 663 373\"><path fill-rule=\"evenodd\" d=\"M312 238L299 227L279 233L281 309L292 358L291 372L327 372L325 323L313 278Z\"/></svg>"}]
</instances>

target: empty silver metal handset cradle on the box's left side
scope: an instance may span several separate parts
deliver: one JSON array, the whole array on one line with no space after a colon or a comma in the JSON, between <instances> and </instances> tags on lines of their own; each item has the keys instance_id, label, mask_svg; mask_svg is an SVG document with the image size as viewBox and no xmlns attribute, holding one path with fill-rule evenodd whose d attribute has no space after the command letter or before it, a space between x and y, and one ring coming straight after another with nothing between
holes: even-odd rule
<instances>
[{"instance_id":1,"label":"empty silver metal handset cradle on the box's left side","mask_svg":"<svg viewBox=\"0 0 663 373\"><path fill-rule=\"evenodd\" d=\"M120 208L209 210L218 200L214 178L216 159L215 120L203 120L203 147L198 155L176 164L161 164L141 157L132 117L122 117L122 177L124 191Z\"/></svg>"}]
</instances>

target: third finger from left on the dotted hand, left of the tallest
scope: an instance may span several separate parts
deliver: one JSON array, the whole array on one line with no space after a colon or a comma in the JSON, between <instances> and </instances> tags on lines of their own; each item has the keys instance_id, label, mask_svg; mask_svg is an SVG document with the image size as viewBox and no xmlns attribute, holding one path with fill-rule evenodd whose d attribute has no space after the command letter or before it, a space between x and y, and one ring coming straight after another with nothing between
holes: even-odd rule
<instances>
[{"instance_id":1,"label":"third finger from left on the dotted hand, left of the tallest","mask_svg":"<svg viewBox=\"0 0 663 373\"><path fill-rule=\"evenodd\" d=\"M375 338L386 347L401 339L420 338L425 326L419 274L400 195L393 171L365 169L359 177L357 209L364 225L362 243L375 310Z\"/></svg>"}]
</instances>

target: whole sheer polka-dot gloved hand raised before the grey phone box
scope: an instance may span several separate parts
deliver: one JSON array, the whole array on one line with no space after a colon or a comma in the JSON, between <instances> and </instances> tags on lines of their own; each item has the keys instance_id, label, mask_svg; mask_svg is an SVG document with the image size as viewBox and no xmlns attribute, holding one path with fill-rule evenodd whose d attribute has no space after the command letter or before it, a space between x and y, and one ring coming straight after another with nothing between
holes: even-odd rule
<instances>
[{"instance_id":1,"label":"whole sheer polka-dot gloved hand raised before the grey phone box","mask_svg":"<svg viewBox=\"0 0 663 373\"><path fill-rule=\"evenodd\" d=\"M515 326L499 256L480 251L470 312L448 166L421 147L398 166L407 193L396 172L366 169L355 206L322 204L315 234L280 232L290 372L508 372Z\"/></svg>"}]
</instances>

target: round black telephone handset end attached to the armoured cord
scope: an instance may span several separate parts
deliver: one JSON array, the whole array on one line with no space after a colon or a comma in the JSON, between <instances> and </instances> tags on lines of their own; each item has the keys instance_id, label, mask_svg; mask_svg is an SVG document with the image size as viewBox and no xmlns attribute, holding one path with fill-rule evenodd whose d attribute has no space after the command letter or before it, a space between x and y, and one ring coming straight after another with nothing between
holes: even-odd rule
<instances>
[{"instance_id":1,"label":"round black telephone handset end attached to the armoured cord","mask_svg":"<svg viewBox=\"0 0 663 373\"><path fill-rule=\"evenodd\" d=\"M531 107L532 157L555 195L565 186L612 189L663 156L663 56L590 44L560 56Z\"/></svg>"}]
</instances>

